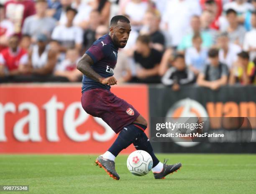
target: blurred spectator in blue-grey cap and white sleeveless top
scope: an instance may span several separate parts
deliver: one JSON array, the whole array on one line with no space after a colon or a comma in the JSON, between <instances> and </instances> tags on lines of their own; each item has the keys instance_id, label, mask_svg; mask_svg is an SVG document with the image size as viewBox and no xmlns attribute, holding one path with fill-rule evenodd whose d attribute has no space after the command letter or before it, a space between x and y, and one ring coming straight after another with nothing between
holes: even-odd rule
<instances>
[{"instance_id":1,"label":"blurred spectator in blue-grey cap and white sleeveless top","mask_svg":"<svg viewBox=\"0 0 256 194\"><path fill-rule=\"evenodd\" d=\"M36 45L29 53L29 67L32 74L50 75L56 64L56 52L49 49L47 36L38 34Z\"/></svg>"}]
</instances>

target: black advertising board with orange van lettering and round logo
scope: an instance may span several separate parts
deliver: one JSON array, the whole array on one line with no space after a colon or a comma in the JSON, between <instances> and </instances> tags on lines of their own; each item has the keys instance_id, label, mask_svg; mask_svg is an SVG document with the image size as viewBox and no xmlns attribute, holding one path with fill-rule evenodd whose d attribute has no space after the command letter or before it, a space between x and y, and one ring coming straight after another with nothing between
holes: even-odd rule
<instances>
[{"instance_id":1,"label":"black advertising board with orange van lettering and round logo","mask_svg":"<svg viewBox=\"0 0 256 194\"><path fill-rule=\"evenodd\" d=\"M214 120L218 122L225 119L228 124L241 120L244 121L241 124L246 124L248 121L247 126L241 127L240 130L225 130L225 137L215 139L215 142L177 142L177 139L172 142L153 142L156 152L256 153L255 86L225 86L217 91L185 86L177 92L163 86L151 86L149 104L151 118L218 117L219 119ZM210 123L213 124L216 123ZM151 134L154 133L153 130L151 127ZM244 134L247 137L244 137Z\"/></svg>"}]
</instances>

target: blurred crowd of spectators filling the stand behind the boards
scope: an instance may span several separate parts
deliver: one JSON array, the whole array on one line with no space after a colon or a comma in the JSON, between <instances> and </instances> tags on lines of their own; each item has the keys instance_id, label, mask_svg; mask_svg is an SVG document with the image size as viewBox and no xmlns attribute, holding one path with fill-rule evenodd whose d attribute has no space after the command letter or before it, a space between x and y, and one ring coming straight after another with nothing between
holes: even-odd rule
<instances>
[{"instance_id":1,"label":"blurred crowd of spectators filling the stand behind the boards","mask_svg":"<svg viewBox=\"0 0 256 194\"><path fill-rule=\"evenodd\" d=\"M256 0L0 0L0 82L78 82L114 15L132 31L118 83L256 84Z\"/></svg>"}]
</instances>

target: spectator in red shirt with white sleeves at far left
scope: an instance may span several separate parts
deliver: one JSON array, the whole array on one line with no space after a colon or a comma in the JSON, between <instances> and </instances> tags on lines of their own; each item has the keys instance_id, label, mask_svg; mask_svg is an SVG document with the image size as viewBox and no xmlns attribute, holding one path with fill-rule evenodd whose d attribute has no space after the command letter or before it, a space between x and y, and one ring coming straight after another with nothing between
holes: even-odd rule
<instances>
[{"instance_id":1,"label":"spectator in red shirt with white sleeves at far left","mask_svg":"<svg viewBox=\"0 0 256 194\"><path fill-rule=\"evenodd\" d=\"M9 47L0 52L0 76L15 76L28 72L28 53L18 47L18 35L12 35L8 42Z\"/></svg>"}]
</instances>

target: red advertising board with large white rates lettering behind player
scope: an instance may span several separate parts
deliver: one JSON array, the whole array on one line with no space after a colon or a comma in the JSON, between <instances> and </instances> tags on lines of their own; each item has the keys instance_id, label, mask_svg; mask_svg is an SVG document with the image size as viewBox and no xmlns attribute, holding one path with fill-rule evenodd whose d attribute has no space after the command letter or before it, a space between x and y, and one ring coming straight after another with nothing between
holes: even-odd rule
<instances>
[{"instance_id":1,"label":"red advertising board with large white rates lettering behind player","mask_svg":"<svg viewBox=\"0 0 256 194\"><path fill-rule=\"evenodd\" d=\"M116 86L111 91L148 119L145 85ZM0 85L0 153L105 152L116 134L102 119L87 114L80 99L80 84ZM122 153L132 151L131 145Z\"/></svg>"}]
</instances>

